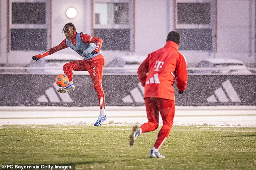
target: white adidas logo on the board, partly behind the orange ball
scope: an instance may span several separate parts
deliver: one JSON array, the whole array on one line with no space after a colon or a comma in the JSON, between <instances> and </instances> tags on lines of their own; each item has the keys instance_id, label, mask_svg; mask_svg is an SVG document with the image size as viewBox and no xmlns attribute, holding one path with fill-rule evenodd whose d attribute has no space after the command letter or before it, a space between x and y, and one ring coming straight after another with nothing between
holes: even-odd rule
<instances>
[{"instance_id":1,"label":"white adidas logo on the board, partly behind the orange ball","mask_svg":"<svg viewBox=\"0 0 256 170\"><path fill-rule=\"evenodd\" d=\"M58 86L56 84L53 84L53 87L49 87L45 90L45 95L42 95L37 98L39 103L71 103L73 102L72 98L69 96L68 93L58 93Z\"/></svg>"}]
</instances>

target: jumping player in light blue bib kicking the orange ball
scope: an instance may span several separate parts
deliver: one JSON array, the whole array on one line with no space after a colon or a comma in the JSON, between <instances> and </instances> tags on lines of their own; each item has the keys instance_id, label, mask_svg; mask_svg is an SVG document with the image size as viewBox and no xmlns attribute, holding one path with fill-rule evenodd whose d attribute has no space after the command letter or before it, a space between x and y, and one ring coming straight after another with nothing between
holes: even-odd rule
<instances>
[{"instance_id":1,"label":"jumping player in light blue bib kicking the orange ball","mask_svg":"<svg viewBox=\"0 0 256 170\"><path fill-rule=\"evenodd\" d=\"M63 88L59 88L58 92L65 93L75 89L73 84L73 71L88 71L97 92L100 115L94 126L99 126L105 121L105 94L102 88L102 75L103 66L105 64L105 57L101 52L102 39L92 37L84 33L77 33L76 27L72 23L67 23L62 32L64 32L66 39L64 39L56 47L50 48L48 51L38 54L32 57L32 59L38 61L42 57L53 54L61 49L70 47L84 59L72 61L66 63L63 66L63 71L69 78L69 84Z\"/></svg>"}]
</instances>

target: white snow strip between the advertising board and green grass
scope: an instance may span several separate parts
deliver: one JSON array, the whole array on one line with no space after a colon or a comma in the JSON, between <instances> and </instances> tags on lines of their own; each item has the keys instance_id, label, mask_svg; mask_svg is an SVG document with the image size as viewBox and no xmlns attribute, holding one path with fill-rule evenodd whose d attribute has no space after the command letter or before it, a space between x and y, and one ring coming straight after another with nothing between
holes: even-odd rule
<instances>
[{"instance_id":1,"label":"white snow strip between the advertising board and green grass","mask_svg":"<svg viewBox=\"0 0 256 170\"><path fill-rule=\"evenodd\" d=\"M106 107L105 113L103 125L147 122L145 106ZM0 125L93 125L98 116L99 107L0 107ZM256 127L256 106L178 106L174 125Z\"/></svg>"}]
</instances>

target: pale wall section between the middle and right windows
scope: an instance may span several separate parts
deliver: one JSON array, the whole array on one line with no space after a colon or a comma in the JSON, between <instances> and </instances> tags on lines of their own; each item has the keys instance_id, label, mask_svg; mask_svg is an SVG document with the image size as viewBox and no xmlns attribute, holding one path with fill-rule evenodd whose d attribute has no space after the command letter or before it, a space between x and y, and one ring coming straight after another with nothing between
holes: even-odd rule
<instances>
[{"instance_id":1,"label":"pale wall section between the middle and right windows","mask_svg":"<svg viewBox=\"0 0 256 170\"><path fill-rule=\"evenodd\" d=\"M166 0L135 1L135 49L138 55L147 55L166 43Z\"/></svg>"}]
</instances>

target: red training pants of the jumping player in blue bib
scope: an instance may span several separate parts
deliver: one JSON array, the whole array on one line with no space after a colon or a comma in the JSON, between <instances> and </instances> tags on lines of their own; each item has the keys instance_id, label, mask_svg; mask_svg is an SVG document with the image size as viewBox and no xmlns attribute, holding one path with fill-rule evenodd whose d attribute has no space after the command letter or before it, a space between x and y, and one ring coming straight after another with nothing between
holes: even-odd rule
<instances>
[{"instance_id":1,"label":"red training pants of the jumping player in blue bib","mask_svg":"<svg viewBox=\"0 0 256 170\"><path fill-rule=\"evenodd\" d=\"M103 55L103 54L100 54ZM98 57L98 56L97 56ZM93 87L97 93L99 100L100 109L105 109L105 94L102 87L102 76L103 76L103 66L105 64L105 58L100 57L94 60L77 60L66 63L63 66L63 71L69 78L69 81L73 81L73 71L88 71L91 78Z\"/></svg>"}]
</instances>

